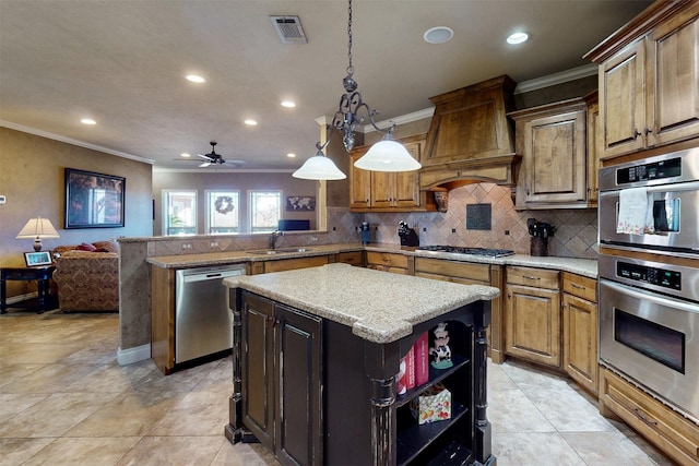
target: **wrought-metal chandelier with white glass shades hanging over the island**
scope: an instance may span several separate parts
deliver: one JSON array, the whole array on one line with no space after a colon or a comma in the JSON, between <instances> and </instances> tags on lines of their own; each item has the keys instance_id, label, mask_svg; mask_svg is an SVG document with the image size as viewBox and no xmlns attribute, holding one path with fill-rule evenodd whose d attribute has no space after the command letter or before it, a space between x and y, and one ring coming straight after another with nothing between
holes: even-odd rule
<instances>
[{"instance_id":1,"label":"wrought-metal chandelier with white glass shades hanging over the island","mask_svg":"<svg viewBox=\"0 0 699 466\"><path fill-rule=\"evenodd\" d=\"M380 129L374 117L379 112L362 98L362 92L357 89L358 84L354 80L354 65L352 64L352 0L348 0L347 7L347 75L342 80L345 93L340 97L340 105L335 112L330 128L330 135L324 144L320 141L316 143L316 155L310 157L306 163L296 170L292 176L307 180L342 180L347 178L335 164L325 156L323 151L330 144L335 130L343 133L342 144L345 151L350 152L354 147L354 132L358 124L363 124L368 118L369 123L383 134L383 139L374 144L367 153L362 156L354 166L363 170L371 171L412 171L417 170L422 166L407 150L393 140L392 132L395 123L387 130Z\"/></svg>"}]
</instances>

